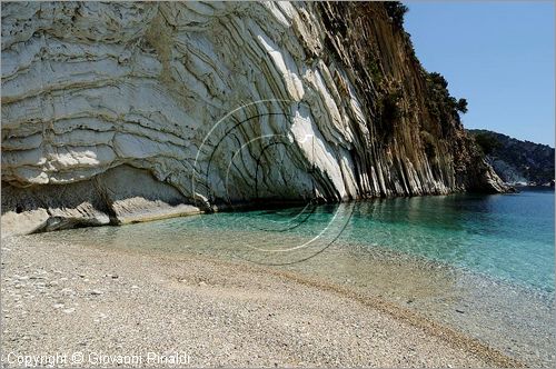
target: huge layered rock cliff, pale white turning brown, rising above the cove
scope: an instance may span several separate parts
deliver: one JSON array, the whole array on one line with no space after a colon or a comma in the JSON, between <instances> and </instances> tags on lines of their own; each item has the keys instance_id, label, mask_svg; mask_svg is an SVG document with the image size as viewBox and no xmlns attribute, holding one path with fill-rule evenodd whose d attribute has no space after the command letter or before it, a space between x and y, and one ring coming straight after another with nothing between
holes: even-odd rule
<instances>
[{"instance_id":1,"label":"huge layered rock cliff, pale white turning brown, rising above the cove","mask_svg":"<svg viewBox=\"0 0 556 369\"><path fill-rule=\"evenodd\" d=\"M504 189L384 3L1 7L2 233Z\"/></svg>"}]
</instances>

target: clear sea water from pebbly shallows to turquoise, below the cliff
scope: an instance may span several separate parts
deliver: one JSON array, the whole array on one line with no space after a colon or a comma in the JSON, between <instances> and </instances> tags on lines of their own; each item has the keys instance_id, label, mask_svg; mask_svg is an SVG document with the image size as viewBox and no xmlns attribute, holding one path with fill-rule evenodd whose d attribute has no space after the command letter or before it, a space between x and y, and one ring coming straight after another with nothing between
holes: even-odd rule
<instances>
[{"instance_id":1,"label":"clear sea water from pebbly shallows to turquoise, below the cliff","mask_svg":"<svg viewBox=\"0 0 556 369\"><path fill-rule=\"evenodd\" d=\"M555 360L553 189L222 212L33 237L285 269L393 301L528 365Z\"/></svg>"}]
</instances>

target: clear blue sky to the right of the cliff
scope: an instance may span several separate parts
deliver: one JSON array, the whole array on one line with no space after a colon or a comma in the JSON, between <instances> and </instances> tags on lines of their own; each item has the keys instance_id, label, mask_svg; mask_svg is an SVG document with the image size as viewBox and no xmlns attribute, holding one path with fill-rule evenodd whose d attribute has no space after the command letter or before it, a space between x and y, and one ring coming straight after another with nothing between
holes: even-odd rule
<instances>
[{"instance_id":1,"label":"clear blue sky to the right of the cliff","mask_svg":"<svg viewBox=\"0 0 556 369\"><path fill-rule=\"evenodd\" d=\"M405 29L428 71L466 98L466 128L554 147L553 1L406 2Z\"/></svg>"}]
</instances>

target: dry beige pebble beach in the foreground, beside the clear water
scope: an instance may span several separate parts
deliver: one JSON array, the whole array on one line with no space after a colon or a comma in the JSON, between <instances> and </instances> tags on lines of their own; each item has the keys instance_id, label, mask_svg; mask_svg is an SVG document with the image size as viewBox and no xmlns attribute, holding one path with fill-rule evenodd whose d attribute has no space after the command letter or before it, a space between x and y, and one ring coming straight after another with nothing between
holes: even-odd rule
<instances>
[{"instance_id":1,"label":"dry beige pebble beach in the foreground, beside the clear water","mask_svg":"<svg viewBox=\"0 0 556 369\"><path fill-rule=\"evenodd\" d=\"M519 366L341 286L201 257L39 240L2 239L4 365L59 355L57 365L68 367Z\"/></svg>"}]
</instances>

